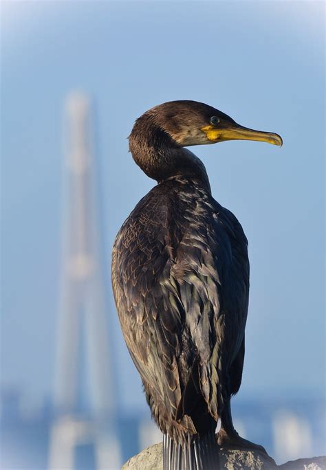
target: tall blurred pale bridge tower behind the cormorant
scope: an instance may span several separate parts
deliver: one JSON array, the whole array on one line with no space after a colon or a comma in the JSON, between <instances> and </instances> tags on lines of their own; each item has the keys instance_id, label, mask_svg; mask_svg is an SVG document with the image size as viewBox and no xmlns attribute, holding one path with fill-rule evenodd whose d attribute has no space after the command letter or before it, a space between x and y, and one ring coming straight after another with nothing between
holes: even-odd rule
<instances>
[{"instance_id":1,"label":"tall blurred pale bridge tower behind the cormorant","mask_svg":"<svg viewBox=\"0 0 326 470\"><path fill-rule=\"evenodd\" d=\"M87 96L73 93L67 98L65 131L56 419L49 466L51 470L119 469L91 104ZM78 463L80 451L83 458Z\"/></svg>"}]
</instances>

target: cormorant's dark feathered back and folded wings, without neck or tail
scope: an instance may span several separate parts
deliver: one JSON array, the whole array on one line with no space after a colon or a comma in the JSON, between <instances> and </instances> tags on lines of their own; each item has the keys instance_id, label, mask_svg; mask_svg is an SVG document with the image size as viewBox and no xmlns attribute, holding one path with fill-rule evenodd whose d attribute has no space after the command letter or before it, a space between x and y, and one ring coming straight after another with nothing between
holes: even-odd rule
<instances>
[{"instance_id":1,"label":"cormorant's dark feathered back and folded wings, without neck or tail","mask_svg":"<svg viewBox=\"0 0 326 470\"><path fill-rule=\"evenodd\" d=\"M216 425L226 383L241 382L242 363L229 376L248 310L247 240L235 216L195 181L160 183L116 237L112 281L162 432L182 442Z\"/></svg>"}]
</instances>

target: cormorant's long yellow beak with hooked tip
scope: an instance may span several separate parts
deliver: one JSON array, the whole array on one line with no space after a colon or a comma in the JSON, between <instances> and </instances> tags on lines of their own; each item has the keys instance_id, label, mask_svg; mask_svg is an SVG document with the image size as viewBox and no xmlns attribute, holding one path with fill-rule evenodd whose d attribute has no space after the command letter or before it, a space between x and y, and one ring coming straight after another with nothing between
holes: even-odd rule
<instances>
[{"instance_id":1,"label":"cormorant's long yellow beak with hooked tip","mask_svg":"<svg viewBox=\"0 0 326 470\"><path fill-rule=\"evenodd\" d=\"M207 138L213 142L224 142L224 140L257 140L259 142L268 142L268 144L279 145L283 144L282 138L279 134L272 132L254 131L247 127L239 126L236 123L230 123L226 127L217 128L209 125L201 128L201 131L206 133Z\"/></svg>"}]
</instances>

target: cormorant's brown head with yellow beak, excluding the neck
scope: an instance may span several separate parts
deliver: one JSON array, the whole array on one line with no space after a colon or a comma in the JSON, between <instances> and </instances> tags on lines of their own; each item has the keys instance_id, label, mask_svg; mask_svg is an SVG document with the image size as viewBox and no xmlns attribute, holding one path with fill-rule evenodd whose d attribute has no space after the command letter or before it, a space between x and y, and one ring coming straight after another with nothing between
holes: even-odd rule
<instances>
[{"instance_id":1,"label":"cormorant's brown head with yellow beak, excluding the neck","mask_svg":"<svg viewBox=\"0 0 326 470\"><path fill-rule=\"evenodd\" d=\"M257 140L282 145L278 134L240 126L227 114L196 101L166 102L150 109L145 115L182 147L226 140Z\"/></svg>"}]
</instances>

